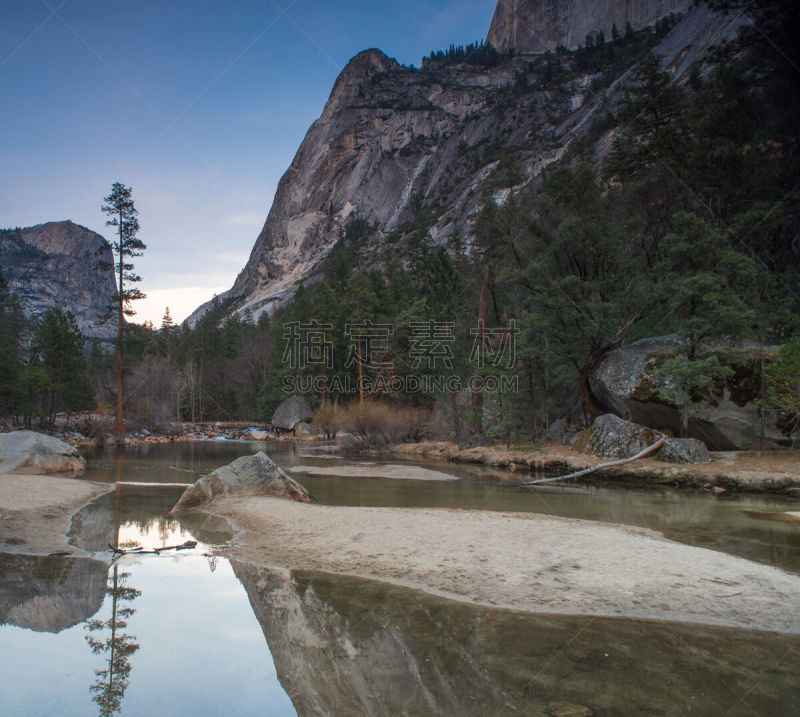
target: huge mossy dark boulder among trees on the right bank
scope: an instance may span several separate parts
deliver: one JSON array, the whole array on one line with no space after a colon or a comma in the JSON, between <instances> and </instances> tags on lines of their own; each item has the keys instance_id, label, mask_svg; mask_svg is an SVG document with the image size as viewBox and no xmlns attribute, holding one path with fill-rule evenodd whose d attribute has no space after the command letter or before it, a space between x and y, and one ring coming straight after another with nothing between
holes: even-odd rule
<instances>
[{"instance_id":1,"label":"huge mossy dark boulder among trees on the right bank","mask_svg":"<svg viewBox=\"0 0 800 717\"><path fill-rule=\"evenodd\" d=\"M656 375L659 361L679 347L678 337L670 335L641 339L612 351L593 377L597 398L623 418L679 435L681 407L659 397L661 379ZM689 436L712 451L758 449L761 415L757 347L742 345L721 351L732 374L719 387L719 395L705 416L689 419ZM781 429L777 412L768 411L765 448L796 448L798 444L799 437L792 438Z\"/></svg>"}]
</instances>

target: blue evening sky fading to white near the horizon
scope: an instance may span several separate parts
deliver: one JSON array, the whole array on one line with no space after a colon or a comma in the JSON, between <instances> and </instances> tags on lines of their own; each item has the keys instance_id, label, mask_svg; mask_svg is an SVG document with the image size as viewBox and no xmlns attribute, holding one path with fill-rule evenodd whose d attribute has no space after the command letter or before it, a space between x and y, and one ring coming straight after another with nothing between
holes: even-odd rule
<instances>
[{"instance_id":1,"label":"blue evening sky fading to white near the horizon","mask_svg":"<svg viewBox=\"0 0 800 717\"><path fill-rule=\"evenodd\" d=\"M231 287L347 61L419 66L485 37L496 0L1 0L0 227L100 211L132 187L134 321Z\"/></svg>"}]
</instances>

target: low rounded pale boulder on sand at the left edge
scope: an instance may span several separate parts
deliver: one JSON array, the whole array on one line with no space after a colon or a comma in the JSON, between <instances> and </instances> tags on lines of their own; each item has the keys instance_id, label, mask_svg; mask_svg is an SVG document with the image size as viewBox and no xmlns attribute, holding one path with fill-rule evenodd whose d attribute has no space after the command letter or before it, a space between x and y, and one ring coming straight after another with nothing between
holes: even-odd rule
<instances>
[{"instance_id":1,"label":"low rounded pale boulder on sand at the left edge","mask_svg":"<svg viewBox=\"0 0 800 717\"><path fill-rule=\"evenodd\" d=\"M80 473L86 459L69 443L34 431L0 434L0 475Z\"/></svg>"}]
</instances>

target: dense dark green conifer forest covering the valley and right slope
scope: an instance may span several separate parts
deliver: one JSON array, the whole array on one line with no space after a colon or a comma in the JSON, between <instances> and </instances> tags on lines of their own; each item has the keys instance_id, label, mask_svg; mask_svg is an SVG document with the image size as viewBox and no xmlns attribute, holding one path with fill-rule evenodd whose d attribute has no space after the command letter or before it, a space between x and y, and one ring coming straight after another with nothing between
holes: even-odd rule
<instances>
[{"instance_id":1,"label":"dense dark green conifer forest covering the valley and right slope","mask_svg":"<svg viewBox=\"0 0 800 717\"><path fill-rule=\"evenodd\" d=\"M351 219L321 276L271 317L231 316L215 302L193 328L173 325L168 311L159 327L129 324L129 419L266 421L301 390L324 422L326 407L363 406L366 393L397 408L437 408L459 440L529 439L555 418L604 410L591 383L609 352L675 334L680 348L659 364L659 400L688 421L746 374L762 410L780 411L796 430L798 11L711 4L753 24L685 84L648 51L676 18L546 55L549 83L638 59L618 99L540 181L524 184L513 147L499 148L470 242L456 232L435 244L435 214L419 202L391 233ZM483 45L430 59L503 61ZM610 128L613 148L599 158ZM498 190L502 203L492 199ZM51 420L111 406L110 353L99 344L76 353L81 339L62 313L26 329L3 287L0 413ZM51 358L55 344L70 347L63 365ZM65 371L91 381L65 385Z\"/></svg>"}]
</instances>

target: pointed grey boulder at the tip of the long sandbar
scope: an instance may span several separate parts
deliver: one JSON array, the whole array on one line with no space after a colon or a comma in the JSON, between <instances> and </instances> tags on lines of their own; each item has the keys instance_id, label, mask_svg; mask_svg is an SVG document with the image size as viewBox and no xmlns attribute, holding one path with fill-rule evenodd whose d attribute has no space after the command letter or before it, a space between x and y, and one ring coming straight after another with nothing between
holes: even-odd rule
<instances>
[{"instance_id":1,"label":"pointed grey boulder at the tip of the long sandbar","mask_svg":"<svg viewBox=\"0 0 800 717\"><path fill-rule=\"evenodd\" d=\"M272 495L310 503L309 492L287 476L266 453L242 456L189 486L170 511L192 510L224 496Z\"/></svg>"}]
</instances>

